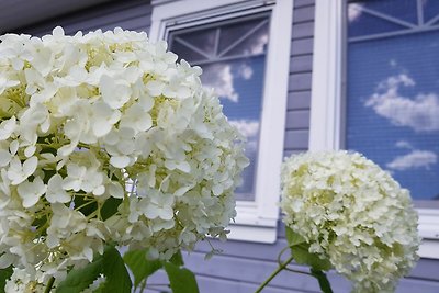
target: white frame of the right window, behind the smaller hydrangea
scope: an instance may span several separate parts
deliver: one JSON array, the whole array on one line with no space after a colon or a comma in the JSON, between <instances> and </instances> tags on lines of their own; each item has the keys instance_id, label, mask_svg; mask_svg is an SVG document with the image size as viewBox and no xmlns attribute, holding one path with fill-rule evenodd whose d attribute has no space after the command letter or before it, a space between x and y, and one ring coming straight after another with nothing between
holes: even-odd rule
<instances>
[{"instance_id":1,"label":"white frame of the right window, behind the smaller hydrangea","mask_svg":"<svg viewBox=\"0 0 439 293\"><path fill-rule=\"evenodd\" d=\"M339 149L342 145L346 1L315 1L309 150ZM419 256L439 259L439 209L417 211L423 237Z\"/></svg>"}]
</instances>

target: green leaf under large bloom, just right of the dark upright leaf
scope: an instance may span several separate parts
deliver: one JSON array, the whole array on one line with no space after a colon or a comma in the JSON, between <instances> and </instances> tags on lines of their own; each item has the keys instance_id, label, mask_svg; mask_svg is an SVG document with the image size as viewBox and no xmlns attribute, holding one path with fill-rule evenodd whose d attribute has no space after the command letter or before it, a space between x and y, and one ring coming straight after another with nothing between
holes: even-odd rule
<instances>
[{"instance_id":1,"label":"green leaf under large bloom, just right of the dark upright leaf","mask_svg":"<svg viewBox=\"0 0 439 293\"><path fill-rule=\"evenodd\" d=\"M134 274L134 285L138 284L145 279L155 273L162 267L160 260L148 260L146 253L148 249L131 250L123 257L125 263L128 266Z\"/></svg>"}]
</instances>

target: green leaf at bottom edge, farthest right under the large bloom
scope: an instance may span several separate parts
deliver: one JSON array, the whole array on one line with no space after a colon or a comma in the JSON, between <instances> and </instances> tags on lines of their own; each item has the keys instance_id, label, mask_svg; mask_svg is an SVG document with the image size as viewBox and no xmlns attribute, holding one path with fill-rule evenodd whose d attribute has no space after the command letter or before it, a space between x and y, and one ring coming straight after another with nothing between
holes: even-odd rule
<instances>
[{"instance_id":1,"label":"green leaf at bottom edge, farthest right under the large bloom","mask_svg":"<svg viewBox=\"0 0 439 293\"><path fill-rule=\"evenodd\" d=\"M179 268L171 262L165 262L165 270L171 284L172 293L199 293L199 285L193 272Z\"/></svg>"}]
</instances>

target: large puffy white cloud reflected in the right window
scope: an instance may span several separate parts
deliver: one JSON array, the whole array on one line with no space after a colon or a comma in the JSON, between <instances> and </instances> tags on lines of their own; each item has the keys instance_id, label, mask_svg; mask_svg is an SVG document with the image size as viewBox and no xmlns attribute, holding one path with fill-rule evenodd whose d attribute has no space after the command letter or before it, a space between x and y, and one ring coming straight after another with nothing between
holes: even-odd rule
<instances>
[{"instance_id":1,"label":"large puffy white cloud reflected in the right window","mask_svg":"<svg viewBox=\"0 0 439 293\"><path fill-rule=\"evenodd\" d=\"M413 86L415 81L405 74L389 77L364 105L396 126L408 126L416 132L439 131L439 97L436 93L418 93L414 98L399 94L401 87Z\"/></svg>"}]
</instances>

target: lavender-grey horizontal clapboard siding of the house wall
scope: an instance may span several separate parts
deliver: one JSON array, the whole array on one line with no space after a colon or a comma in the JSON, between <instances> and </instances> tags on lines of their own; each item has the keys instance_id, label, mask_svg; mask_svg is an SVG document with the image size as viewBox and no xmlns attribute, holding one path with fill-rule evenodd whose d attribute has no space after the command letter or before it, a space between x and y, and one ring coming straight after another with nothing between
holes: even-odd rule
<instances>
[{"instance_id":1,"label":"lavender-grey horizontal clapboard siding of the house wall","mask_svg":"<svg viewBox=\"0 0 439 293\"><path fill-rule=\"evenodd\" d=\"M76 12L55 20L47 20L16 32L42 35L56 25L63 25L66 33L83 32L95 29L109 30L122 26L127 30L149 31L151 8L148 1L117 1L93 9ZM288 111L285 113L284 155L289 156L307 149L309 133L309 101L313 69L313 33L314 33L314 0L294 0L294 16L291 37L290 84L288 92ZM211 244L222 249L223 253L205 261L204 255L211 251L211 246L201 243L195 251L184 256L187 266L196 273L202 293L245 293L254 292L277 268L279 251L286 246L280 222L278 240L272 244L246 241ZM304 270L300 266L292 268ZM349 292L350 284L344 278L330 272L329 279L334 292ZM162 292L164 286L154 284L166 283L164 272L158 272L149 283L148 292ZM166 289L166 288L165 288ZM319 292L317 282L307 275L281 272L272 280L264 293ZM421 259L409 278L401 281L398 293L439 292L439 261Z\"/></svg>"}]
</instances>

